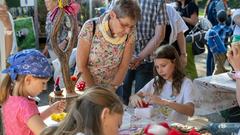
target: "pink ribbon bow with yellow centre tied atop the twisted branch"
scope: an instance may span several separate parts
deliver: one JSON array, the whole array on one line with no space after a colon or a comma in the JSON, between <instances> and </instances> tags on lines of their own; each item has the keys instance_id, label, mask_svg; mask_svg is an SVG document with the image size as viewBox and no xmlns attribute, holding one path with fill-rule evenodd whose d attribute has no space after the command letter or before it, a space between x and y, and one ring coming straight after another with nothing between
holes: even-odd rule
<instances>
[{"instance_id":1,"label":"pink ribbon bow with yellow centre tied atop the twisted branch","mask_svg":"<svg viewBox=\"0 0 240 135\"><path fill-rule=\"evenodd\" d=\"M68 15L76 16L80 9L80 5L72 0L67 6L63 6L62 0L58 0L58 6L53 10L50 15L50 19L52 22L56 17L59 8L63 8L64 12Z\"/></svg>"}]
</instances>

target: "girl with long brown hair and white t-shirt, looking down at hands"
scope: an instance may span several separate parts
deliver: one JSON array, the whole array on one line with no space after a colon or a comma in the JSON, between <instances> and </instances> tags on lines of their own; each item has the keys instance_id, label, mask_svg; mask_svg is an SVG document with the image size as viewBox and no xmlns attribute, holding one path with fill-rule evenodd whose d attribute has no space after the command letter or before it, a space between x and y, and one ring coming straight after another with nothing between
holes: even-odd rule
<instances>
[{"instance_id":1,"label":"girl with long brown hair and white t-shirt, looking down at hands","mask_svg":"<svg viewBox=\"0 0 240 135\"><path fill-rule=\"evenodd\" d=\"M164 45L157 49L154 74L155 78L130 97L130 103L141 107L144 98L148 98L150 103L172 110L167 114L169 120L186 123L188 116L194 113L192 81L185 77L173 46Z\"/></svg>"}]
</instances>

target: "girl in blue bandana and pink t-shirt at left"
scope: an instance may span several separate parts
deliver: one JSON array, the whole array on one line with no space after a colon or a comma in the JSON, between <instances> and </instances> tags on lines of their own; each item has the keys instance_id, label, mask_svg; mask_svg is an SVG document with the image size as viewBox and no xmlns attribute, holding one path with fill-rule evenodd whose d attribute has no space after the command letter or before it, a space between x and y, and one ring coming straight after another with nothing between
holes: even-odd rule
<instances>
[{"instance_id":1,"label":"girl in blue bandana and pink t-shirt at left","mask_svg":"<svg viewBox=\"0 0 240 135\"><path fill-rule=\"evenodd\" d=\"M40 113L32 97L45 88L51 77L47 58L34 49L23 50L8 58L10 66L1 84L0 104L6 135L37 135L46 127L43 120L65 109L59 101Z\"/></svg>"}]
</instances>

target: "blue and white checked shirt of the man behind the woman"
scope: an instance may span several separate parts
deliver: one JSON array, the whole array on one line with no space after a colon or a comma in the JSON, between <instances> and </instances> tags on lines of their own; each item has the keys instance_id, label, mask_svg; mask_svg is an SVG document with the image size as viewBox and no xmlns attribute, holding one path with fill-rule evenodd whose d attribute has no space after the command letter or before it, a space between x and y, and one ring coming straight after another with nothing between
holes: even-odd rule
<instances>
[{"instance_id":1,"label":"blue and white checked shirt of the man behind the woman","mask_svg":"<svg viewBox=\"0 0 240 135\"><path fill-rule=\"evenodd\" d=\"M137 23L135 53L138 55L155 34L156 25L168 24L165 0L139 0L141 20ZM148 56L145 61L152 62Z\"/></svg>"}]
</instances>

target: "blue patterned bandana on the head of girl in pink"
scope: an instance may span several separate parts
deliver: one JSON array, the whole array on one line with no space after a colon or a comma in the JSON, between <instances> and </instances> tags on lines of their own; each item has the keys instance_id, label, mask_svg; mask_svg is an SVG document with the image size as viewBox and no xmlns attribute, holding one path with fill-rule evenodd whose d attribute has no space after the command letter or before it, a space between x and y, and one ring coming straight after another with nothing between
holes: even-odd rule
<instances>
[{"instance_id":1,"label":"blue patterned bandana on the head of girl in pink","mask_svg":"<svg viewBox=\"0 0 240 135\"><path fill-rule=\"evenodd\" d=\"M52 69L47 58L38 50L26 49L8 58L10 66L2 73L10 75L16 80L17 75L32 75L34 77L51 77Z\"/></svg>"}]
</instances>

